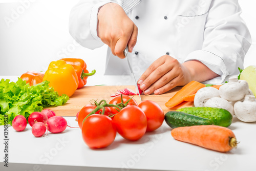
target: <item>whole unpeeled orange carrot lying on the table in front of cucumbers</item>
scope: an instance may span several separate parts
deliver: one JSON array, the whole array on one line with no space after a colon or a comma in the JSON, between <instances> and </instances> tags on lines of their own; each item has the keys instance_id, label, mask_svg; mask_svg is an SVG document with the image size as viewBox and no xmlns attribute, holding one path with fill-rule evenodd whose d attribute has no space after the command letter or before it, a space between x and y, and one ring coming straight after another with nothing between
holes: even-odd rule
<instances>
[{"instance_id":1,"label":"whole unpeeled orange carrot lying on the table in front of cucumbers","mask_svg":"<svg viewBox=\"0 0 256 171\"><path fill-rule=\"evenodd\" d=\"M177 127L171 131L174 139L199 145L218 152L228 152L237 147L234 133L227 127L217 125L195 125Z\"/></svg>"}]
</instances>

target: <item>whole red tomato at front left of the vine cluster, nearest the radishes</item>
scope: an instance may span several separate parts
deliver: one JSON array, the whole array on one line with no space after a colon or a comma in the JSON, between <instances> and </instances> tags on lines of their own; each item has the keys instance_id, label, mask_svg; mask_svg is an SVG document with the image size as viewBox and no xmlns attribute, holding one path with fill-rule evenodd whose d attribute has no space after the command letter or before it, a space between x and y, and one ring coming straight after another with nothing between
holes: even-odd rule
<instances>
[{"instance_id":1,"label":"whole red tomato at front left of the vine cluster, nearest the radishes","mask_svg":"<svg viewBox=\"0 0 256 171\"><path fill-rule=\"evenodd\" d=\"M82 125L83 141L90 148L104 148L116 138L113 120L106 115L93 114Z\"/></svg>"}]
</instances>

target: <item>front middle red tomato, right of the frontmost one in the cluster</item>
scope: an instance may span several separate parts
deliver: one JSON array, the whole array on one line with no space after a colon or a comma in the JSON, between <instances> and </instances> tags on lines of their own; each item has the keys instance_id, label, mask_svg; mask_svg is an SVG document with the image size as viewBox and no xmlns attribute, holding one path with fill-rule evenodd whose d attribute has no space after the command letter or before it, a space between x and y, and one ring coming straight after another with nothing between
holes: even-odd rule
<instances>
[{"instance_id":1,"label":"front middle red tomato, right of the frontmost one in the cluster","mask_svg":"<svg viewBox=\"0 0 256 171\"><path fill-rule=\"evenodd\" d=\"M114 123L117 132L127 140L136 141L146 132L146 115L135 105L127 106L117 113Z\"/></svg>"}]
</instances>

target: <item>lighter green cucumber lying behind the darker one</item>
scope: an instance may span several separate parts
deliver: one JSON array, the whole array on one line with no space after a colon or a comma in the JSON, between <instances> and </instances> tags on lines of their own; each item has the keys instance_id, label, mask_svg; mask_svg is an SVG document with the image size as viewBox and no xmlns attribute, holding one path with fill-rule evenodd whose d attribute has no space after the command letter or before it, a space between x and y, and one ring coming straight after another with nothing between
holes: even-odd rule
<instances>
[{"instance_id":1,"label":"lighter green cucumber lying behind the darker one","mask_svg":"<svg viewBox=\"0 0 256 171\"><path fill-rule=\"evenodd\" d=\"M215 125L228 127L232 123L232 115L225 109L210 107L189 107L178 109L179 112L203 117L214 121Z\"/></svg>"}]
</instances>

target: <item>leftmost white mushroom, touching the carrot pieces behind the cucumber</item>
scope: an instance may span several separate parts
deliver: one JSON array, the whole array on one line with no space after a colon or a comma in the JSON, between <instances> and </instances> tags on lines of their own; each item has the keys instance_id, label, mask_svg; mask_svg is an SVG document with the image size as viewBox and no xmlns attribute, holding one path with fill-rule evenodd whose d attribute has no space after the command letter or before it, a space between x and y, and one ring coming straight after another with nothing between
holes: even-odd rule
<instances>
[{"instance_id":1,"label":"leftmost white mushroom, touching the carrot pieces behind the cucumber","mask_svg":"<svg viewBox=\"0 0 256 171\"><path fill-rule=\"evenodd\" d=\"M194 105L196 107L203 107L204 103L212 97L220 97L218 89L213 87L204 87L199 89L195 95Z\"/></svg>"}]
</instances>

